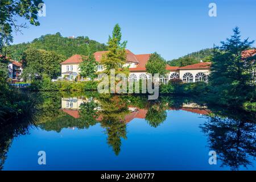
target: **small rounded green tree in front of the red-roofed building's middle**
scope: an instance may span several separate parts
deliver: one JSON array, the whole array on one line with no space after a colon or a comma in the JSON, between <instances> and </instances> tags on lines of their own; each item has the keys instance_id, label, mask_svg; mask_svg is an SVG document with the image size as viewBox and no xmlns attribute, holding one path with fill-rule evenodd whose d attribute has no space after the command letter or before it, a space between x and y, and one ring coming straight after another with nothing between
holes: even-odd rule
<instances>
[{"instance_id":1,"label":"small rounded green tree in front of the red-roofed building's middle","mask_svg":"<svg viewBox=\"0 0 256 182\"><path fill-rule=\"evenodd\" d=\"M146 71L147 73L151 73L152 76L156 73L159 73L159 76L165 76L167 73L166 64L166 60L164 60L158 53L154 52L147 61Z\"/></svg>"}]
</instances>

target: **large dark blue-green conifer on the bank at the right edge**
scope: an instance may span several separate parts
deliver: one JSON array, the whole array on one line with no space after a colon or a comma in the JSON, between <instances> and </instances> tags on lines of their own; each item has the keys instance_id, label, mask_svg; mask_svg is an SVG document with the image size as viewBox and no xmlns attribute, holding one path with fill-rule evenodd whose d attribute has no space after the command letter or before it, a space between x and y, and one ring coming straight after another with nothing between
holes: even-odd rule
<instances>
[{"instance_id":1,"label":"large dark blue-green conifer on the bank at the right edge","mask_svg":"<svg viewBox=\"0 0 256 182\"><path fill-rule=\"evenodd\" d=\"M246 101L255 102L255 82L252 82L255 61L243 56L253 42L241 40L238 27L234 35L221 42L219 51L214 53L209 77L212 100L219 104L242 106Z\"/></svg>"}]
</instances>

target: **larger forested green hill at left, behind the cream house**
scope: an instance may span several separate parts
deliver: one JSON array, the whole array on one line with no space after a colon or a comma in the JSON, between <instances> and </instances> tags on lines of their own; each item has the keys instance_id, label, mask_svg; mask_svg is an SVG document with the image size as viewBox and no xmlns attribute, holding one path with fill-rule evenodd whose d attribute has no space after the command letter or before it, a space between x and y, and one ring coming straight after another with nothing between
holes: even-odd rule
<instances>
[{"instance_id":1,"label":"larger forested green hill at left, behind the cream house","mask_svg":"<svg viewBox=\"0 0 256 182\"><path fill-rule=\"evenodd\" d=\"M20 60L22 53L28 48L45 49L46 51L55 51L57 54L66 58L75 55L87 55L88 47L90 51L105 51L105 44L90 40L87 36L79 36L77 38L65 38L59 32L54 35L42 35L38 39L34 39L30 43L21 43L10 46L11 57Z\"/></svg>"}]
</instances>

